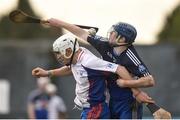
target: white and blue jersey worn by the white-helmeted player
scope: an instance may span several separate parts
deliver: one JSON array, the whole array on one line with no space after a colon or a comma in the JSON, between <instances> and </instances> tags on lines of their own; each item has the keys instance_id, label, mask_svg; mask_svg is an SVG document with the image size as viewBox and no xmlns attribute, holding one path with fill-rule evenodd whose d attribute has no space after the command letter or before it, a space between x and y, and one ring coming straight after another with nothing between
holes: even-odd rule
<instances>
[{"instance_id":1,"label":"white and blue jersey worn by the white-helmeted player","mask_svg":"<svg viewBox=\"0 0 180 120\"><path fill-rule=\"evenodd\" d=\"M76 80L74 102L80 107L91 107L105 102L105 73L115 73L118 65L96 57L86 48L81 49L77 63L71 66Z\"/></svg>"}]
</instances>

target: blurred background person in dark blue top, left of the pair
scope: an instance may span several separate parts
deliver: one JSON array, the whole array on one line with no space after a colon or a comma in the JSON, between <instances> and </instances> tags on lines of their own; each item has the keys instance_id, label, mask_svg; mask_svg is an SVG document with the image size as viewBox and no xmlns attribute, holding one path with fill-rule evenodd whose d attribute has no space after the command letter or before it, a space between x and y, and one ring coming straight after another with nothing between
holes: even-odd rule
<instances>
[{"instance_id":1,"label":"blurred background person in dark blue top, left of the pair","mask_svg":"<svg viewBox=\"0 0 180 120\"><path fill-rule=\"evenodd\" d=\"M48 118L49 96L46 93L46 85L50 82L48 77L37 79L37 89L33 90L28 96L27 112L30 119Z\"/></svg>"}]
</instances>

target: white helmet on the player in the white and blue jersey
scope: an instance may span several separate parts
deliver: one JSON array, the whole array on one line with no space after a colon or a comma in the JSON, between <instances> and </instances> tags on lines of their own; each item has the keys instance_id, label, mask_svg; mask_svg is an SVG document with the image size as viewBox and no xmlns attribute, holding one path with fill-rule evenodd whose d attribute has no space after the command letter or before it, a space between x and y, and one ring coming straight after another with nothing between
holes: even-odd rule
<instances>
[{"instance_id":1,"label":"white helmet on the player in the white and blue jersey","mask_svg":"<svg viewBox=\"0 0 180 120\"><path fill-rule=\"evenodd\" d=\"M53 51L59 52L62 55L64 55L64 57L69 58L71 56L66 56L66 49L71 48L72 51L75 50L74 52L78 51L79 49L79 44L76 41L76 45L75 45L75 41L76 41L76 37L73 36L72 34L67 33L65 35L62 35L61 37L59 37L54 41Z\"/></svg>"}]
</instances>

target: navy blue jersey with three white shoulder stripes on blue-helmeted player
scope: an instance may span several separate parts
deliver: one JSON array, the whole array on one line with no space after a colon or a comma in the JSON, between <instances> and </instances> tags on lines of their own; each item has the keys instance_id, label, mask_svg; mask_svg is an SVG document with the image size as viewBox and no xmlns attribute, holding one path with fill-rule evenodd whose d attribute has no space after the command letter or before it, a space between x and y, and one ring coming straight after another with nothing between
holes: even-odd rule
<instances>
[{"instance_id":1,"label":"navy blue jersey with three white shoulder stripes on blue-helmeted player","mask_svg":"<svg viewBox=\"0 0 180 120\"><path fill-rule=\"evenodd\" d=\"M100 36L89 36L87 41L96 48L104 60L125 66L132 75L142 77L150 74L147 67L137 55L133 45L129 46L120 55L116 55L113 47L105 39ZM129 88L118 87L115 82L117 78L118 76L115 74L107 77L110 98L114 100L133 99L132 92Z\"/></svg>"}]
</instances>

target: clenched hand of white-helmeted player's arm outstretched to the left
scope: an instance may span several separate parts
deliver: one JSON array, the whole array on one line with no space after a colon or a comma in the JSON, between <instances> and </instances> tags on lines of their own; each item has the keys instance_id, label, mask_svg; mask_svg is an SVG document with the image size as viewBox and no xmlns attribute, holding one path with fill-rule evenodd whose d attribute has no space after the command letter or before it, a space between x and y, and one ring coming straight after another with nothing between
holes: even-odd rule
<instances>
[{"instance_id":1,"label":"clenched hand of white-helmeted player's arm outstretched to the left","mask_svg":"<svg viewBox=\"0 0 180 120\"><path fill-rule=\"evenodd\" d=\"M32 75L35 77L48 77L48 71L37 67L32 70Z\"/></svg>"}]
</instances>

